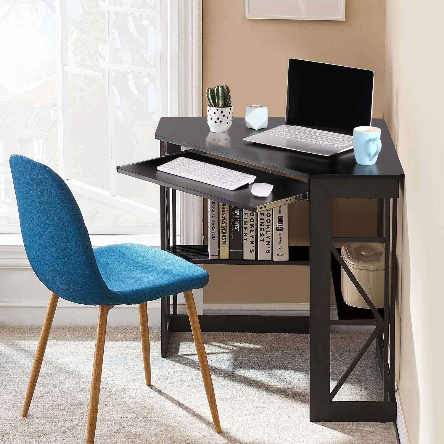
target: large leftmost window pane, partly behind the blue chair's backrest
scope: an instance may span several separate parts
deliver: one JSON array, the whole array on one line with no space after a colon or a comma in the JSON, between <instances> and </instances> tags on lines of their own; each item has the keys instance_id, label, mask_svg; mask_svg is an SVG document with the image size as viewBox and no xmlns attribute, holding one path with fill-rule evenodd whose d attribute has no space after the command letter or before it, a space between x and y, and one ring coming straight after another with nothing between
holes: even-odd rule
<instances>
[{"instance_id":1,"label":"large leftmost window pane, partly behind the blue chair's backrest","mask_svg":"<svg viewBox=\"0 0 444 444\"><path fill-rule=\"evenodd\" d=\"M0 233L20 233L11 155L58 170L55 37L43 3L0 1Z\"/></svg>"}]
</instances>

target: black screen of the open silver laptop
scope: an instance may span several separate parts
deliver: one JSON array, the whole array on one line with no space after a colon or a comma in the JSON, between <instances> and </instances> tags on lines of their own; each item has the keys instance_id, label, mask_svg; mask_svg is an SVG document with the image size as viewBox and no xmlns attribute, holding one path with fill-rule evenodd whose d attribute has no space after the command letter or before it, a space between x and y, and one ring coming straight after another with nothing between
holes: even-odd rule
<instances>
[{"instance_id":1,"label":"black screen of the open silver laptop","mask_svg":"<svg viewBox=\"0 0 444 444\"><path fill-rule=\"evenodd\" d=\"M353 135L371 125L373 71L290 59L285 123Z\"/></svg>"}]
</instances>

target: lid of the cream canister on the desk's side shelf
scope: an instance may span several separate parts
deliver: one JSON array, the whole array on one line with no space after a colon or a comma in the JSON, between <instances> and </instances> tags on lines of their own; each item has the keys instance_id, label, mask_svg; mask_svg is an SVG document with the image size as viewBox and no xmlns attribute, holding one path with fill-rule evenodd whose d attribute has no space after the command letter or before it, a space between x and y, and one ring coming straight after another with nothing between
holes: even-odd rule
<instances>
[{"instance_id":1,"label":"lid of the cream canister on the desk's side shelf","mask_svg":"<svg viewBox=\"0 0 444 444\"><path fill-rule=\"evenodd\" d=\"M385 247L380 242L349 242L341 248L342 258L348 265L360 270L384 270ZM389 253L389 263L392 255Z\"/></svg>"}]
</instances>

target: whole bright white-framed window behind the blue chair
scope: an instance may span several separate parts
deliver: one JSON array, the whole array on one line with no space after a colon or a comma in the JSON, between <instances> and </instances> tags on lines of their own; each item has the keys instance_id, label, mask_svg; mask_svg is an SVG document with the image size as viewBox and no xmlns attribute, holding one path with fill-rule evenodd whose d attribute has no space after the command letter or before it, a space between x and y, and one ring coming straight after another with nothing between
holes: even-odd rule
<instances>
[{"instance_id":1,"label":"whole bright white-framed window behind the blue chair","mask_svg":"<svg viewBox=\"0 0 444 444\"><path fill-rule=\"evenodd\" d=\"M2 132L8 156L56 170L91 234L160 232L159 186L117 174L116 166L159 155L157 122L177 115L179 88L172 93L171 85L178 82L178 54L169 49L171 39L178 48L175 3L0 2L0 52L8 60L0 71L0 115L8 116ZM16 207L7 169L1 200Z\"/></svg>"}]
</instances>

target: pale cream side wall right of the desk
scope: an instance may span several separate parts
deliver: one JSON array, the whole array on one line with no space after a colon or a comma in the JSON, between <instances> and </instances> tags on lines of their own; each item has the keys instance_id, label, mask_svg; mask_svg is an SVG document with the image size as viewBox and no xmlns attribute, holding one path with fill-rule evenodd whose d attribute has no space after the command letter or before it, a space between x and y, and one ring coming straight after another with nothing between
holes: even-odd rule
<instances>
[{"instance_id":1,"label":"pale cream side wall right of the desk","mask_svg":"<svg viewBox=\"0 0 444 444\"><path fill-rule=\"evenodd\" d=\"M410 443L440 444L444 151L435 134L444 129L444 7L390 0L386 14L385 119L405 172L398 392Z\"/></svg>"}]
</instances>

